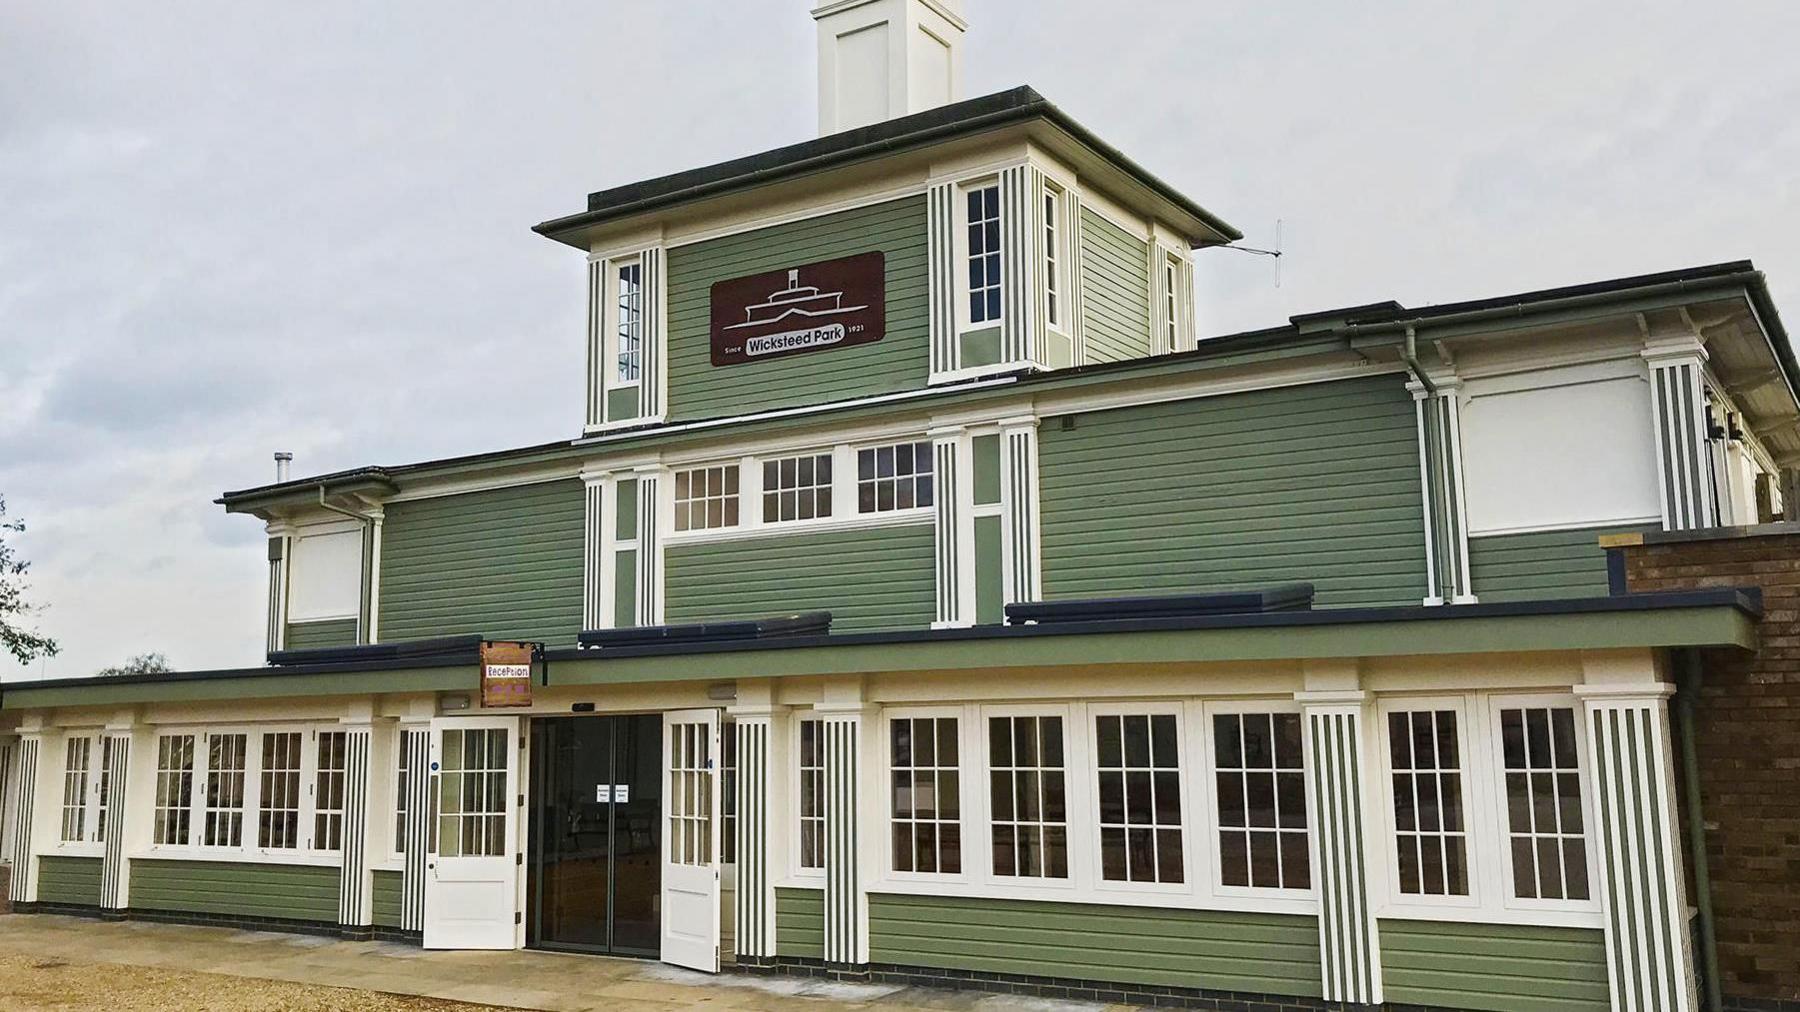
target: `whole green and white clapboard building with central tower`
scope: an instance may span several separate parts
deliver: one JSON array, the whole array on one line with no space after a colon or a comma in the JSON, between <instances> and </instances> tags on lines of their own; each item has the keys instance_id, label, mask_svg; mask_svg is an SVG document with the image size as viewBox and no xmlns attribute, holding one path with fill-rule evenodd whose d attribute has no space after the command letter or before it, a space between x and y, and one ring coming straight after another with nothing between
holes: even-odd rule
<instances>
[{"instance_id":1,"label":"whole green and white clapboard building with central tower","mask_svg":"<svg viewBox=\"0 0 1800 1012\"><path fill-rule=\"evenodd\" d=\"M961 101L954 0L814 16L819 139L536 227L589 263L571 438L229 492L265 666L5 686L14 904L1696 1008L1672 672L1759 601L1624 594L1600 538L1782 513L1760 274L1201 340L1231 225ZM482 641L538 645L527 706Z\"/></svg>"}]
</instances>

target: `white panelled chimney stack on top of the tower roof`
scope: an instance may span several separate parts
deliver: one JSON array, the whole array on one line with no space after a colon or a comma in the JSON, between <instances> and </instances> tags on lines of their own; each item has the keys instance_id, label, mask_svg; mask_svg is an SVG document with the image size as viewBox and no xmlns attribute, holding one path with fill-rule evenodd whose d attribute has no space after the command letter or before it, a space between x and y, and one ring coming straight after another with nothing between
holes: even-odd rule
<instances>
[{"instance_id":1,"label":"white panelled chimney stack on top of the tower roof","mask_svg":"<svg viewBox=\"0 0 1800 1012\"><path fill-rule=\"evenodd\" d=\"M819 23L819 135L963 97L961 0L835 0Z\"/></svg>"}]
</instances>

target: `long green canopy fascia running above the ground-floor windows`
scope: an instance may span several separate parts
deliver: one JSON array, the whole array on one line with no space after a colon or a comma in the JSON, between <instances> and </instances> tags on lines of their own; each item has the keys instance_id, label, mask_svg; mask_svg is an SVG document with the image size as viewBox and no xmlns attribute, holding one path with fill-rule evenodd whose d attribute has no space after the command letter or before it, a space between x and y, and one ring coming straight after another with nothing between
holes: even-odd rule
<instances>
[{"instance_id":1,"label":"long green canopy fascia running above the ground-floor windows","mask_svg":"<svg viewBox=\"0 0 1800 1012\"><path fill-rule=\"evenodd\" d=\"M551 650L544 686L891 672L1046 670L1757 645L1762 598L1706 589L1494 605L1325 609L1058 625ZM695 657L706 657L695 664ZM328 664L50 679L0 686L0 709L405 691L472 691L470 650Z\"/></svg>"}]
</instances>

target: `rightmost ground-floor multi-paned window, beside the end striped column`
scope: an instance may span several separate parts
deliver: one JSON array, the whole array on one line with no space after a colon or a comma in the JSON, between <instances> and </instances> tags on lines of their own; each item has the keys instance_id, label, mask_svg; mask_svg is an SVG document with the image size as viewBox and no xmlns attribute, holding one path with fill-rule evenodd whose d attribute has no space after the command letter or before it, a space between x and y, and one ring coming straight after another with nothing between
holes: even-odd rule
<instances>
[{"instance_id":1,"label":"rightmost ground-floor multi-paned window, beside the end striped column","mask_svg":"<svg viewBox=\"0 0 1800 1012\"><path fill-rule=\"evenodd\" d=\"M1501 709L1499 742L1507 776L1512 895L1586 900L1588 846L1582 839L1575 709Z\"/></svg>"}]
</instances>

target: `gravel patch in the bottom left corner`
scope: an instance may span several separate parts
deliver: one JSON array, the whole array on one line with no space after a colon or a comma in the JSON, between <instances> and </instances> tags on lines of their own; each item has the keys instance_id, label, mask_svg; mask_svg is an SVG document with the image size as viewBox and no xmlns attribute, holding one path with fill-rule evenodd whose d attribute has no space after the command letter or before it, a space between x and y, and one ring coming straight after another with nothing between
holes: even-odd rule
<instances>
[{"instance_id":1,"label":"gravel patch in the bottom left corner","mask_svg":"<svg viewBox=\"0 0 1800 1012\"><path fill-rule=\"evenodd\" d=\"M166 1010L196 1012L491 1012L491 1005L464 1005L436 998L409 998L254 980L194 971L164 971L121 963L45 960L0 953L0 1008Z\"/></svg>"}]
</instances>

